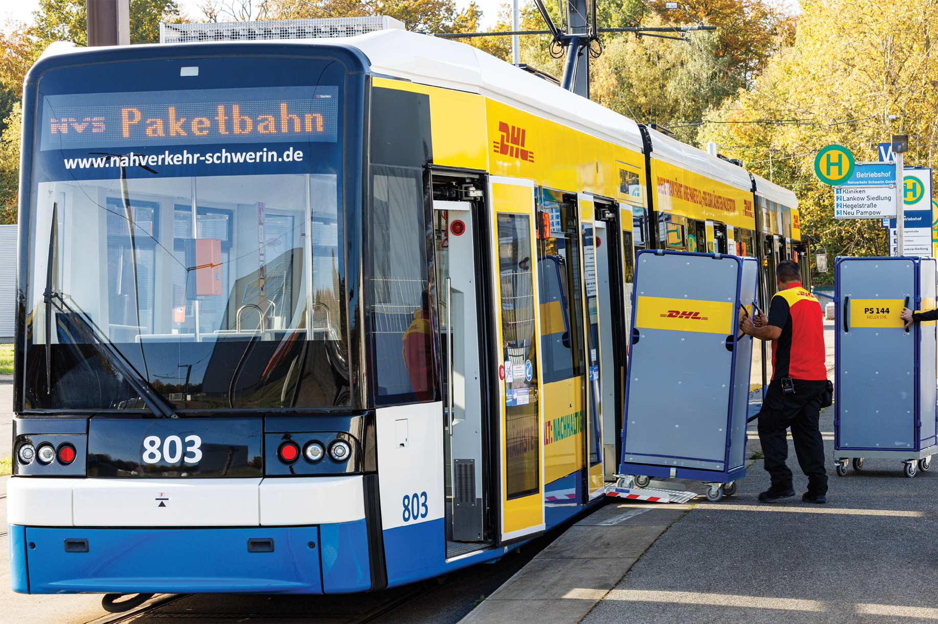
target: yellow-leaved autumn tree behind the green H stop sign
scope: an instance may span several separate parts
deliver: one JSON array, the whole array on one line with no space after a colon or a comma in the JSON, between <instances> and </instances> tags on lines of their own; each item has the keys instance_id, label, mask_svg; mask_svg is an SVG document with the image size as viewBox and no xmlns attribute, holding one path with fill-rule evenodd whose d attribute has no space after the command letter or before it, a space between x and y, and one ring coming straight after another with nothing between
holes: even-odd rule
<instances>
[{"instance_id":1,"label":"yellow-leaved autumn tree behind the green H stop sign","mask_svg":"<svg viewBox=\"0 0 938 624\"><path fill-rule=\"evenodd\" d=\"M876 160L879 141L905 133L907 166L931 166L938 5L830 0L804 8L794 44L771 57L751 88L706 116L701 141L717 141L751 171L793 188L802 231L828 255L885 255L878 219L833 218L833 193L814 177L813 160L829 143L846 145L857 160Z\"/></svg>"}]
</instances>

